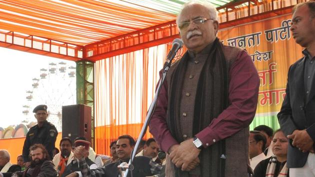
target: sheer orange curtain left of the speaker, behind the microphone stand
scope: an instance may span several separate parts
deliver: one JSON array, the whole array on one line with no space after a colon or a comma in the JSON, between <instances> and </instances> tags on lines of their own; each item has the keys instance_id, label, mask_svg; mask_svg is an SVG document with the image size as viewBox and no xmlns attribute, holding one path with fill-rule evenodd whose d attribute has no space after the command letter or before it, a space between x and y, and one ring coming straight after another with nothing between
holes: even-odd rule
<instances>
[{"instance_id":1,"label":"sheer orange curtain left of the speaker, behind the microphone stand","mask_svg":"<svg viewBox=\"0 0 315 177\"><path fill-rule=\"evenodd\" d=\"M166 44L102 59L95 63L95 150L109 154L119 135L135 139L155 92ZM144 139L151 137L147 132Z\"/></svg>"}]
</instances>

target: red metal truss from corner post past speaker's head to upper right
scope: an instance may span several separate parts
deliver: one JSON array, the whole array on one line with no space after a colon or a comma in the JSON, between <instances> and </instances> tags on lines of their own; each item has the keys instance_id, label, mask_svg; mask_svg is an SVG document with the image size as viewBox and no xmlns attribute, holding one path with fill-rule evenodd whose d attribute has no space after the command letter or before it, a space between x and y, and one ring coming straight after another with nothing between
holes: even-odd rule
<instances>
[{"instance_id":1,"label":"red metal truss from corner post past speaker's head to upper right","mask_svg":"<svg viewBox=\"0 0 315 177\"><path fill-rule=\"evenodd\" d=\"M292 11L305 0L241 0L217 7L220 28L261 20ZM96 61L118 54L171 42L179 37L176 21L101 40L84 46L83 58Z\"/></svg>"}]
</instances>

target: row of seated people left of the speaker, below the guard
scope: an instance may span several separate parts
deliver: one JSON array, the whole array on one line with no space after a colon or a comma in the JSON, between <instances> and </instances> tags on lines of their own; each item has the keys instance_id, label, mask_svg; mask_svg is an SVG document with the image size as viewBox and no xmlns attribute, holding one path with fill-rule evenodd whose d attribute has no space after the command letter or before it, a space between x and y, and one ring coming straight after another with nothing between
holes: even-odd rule
<instances>
[{"instance_id":1,"label":"row of seated people left of the speaker, below the guard","mask_svg":"<svg viewBox=\"0 0 315 177\"><path fill-rule=\"evenodd\" d=\"M156 141L153 138L141 141L144 145L137 149L139 153L133 160L133 176L160 174L163 159L157 155L159 148ZM134 145L130 135L121 135L110 143L111 156L106 156L96 154L84 137L75 138L74 142L69 137L63 137L59 143L60 151L54 154L52 160L44 145L30 146L29 164L23 162L22 155L17 157L17 164L11 164L9 152L0 150L0 176L86 176L86 172L92 176L119 176L121 172L117 166L129 161Z\"/></svg>"}]
</instances>

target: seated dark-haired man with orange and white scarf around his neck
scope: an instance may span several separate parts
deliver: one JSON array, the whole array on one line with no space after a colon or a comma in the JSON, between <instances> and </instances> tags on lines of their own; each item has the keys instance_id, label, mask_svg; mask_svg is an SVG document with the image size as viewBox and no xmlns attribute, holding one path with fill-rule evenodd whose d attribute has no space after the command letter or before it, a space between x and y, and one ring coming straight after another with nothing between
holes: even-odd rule
<instances>
[{"instance_id":1,"label":"seated dark-haired man with orange and white scarf around his neck","mask_svg":"<svg viewBox=\"0 0 315 177\"><path fill-rule=\"evenodd\" d=\"M59 176L61 176L65 167L70 163L73 156L73 153L71 151L72 141L68 137L63 137L60 140L59 146L60 152L53 157L52 162L56 167Z\"/></svg>"}]
</instances>

